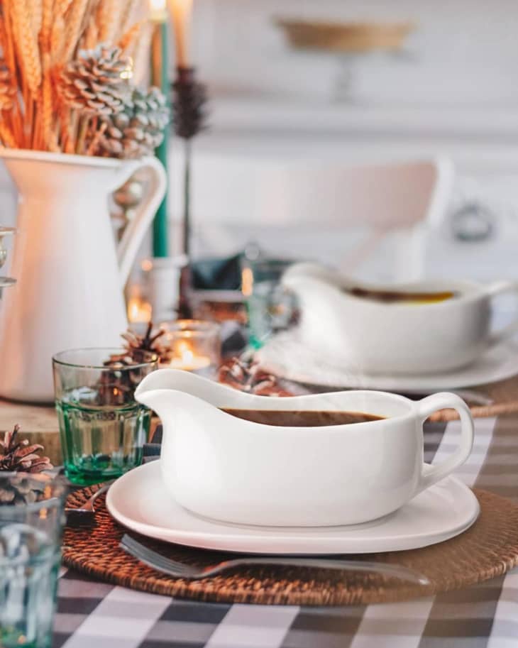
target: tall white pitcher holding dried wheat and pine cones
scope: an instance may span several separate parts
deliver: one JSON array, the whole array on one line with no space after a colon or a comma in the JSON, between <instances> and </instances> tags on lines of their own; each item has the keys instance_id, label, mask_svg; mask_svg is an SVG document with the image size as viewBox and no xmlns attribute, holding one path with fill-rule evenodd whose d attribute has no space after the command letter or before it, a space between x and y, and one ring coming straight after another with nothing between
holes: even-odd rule
<instances>
[{"instance_id":1,"label":"tall white pitcher holding dried wheat and pine cones","mask_svg":"<svg viewBox=\"0 0 518 648\"><path fill-rule=\"evenodd\" d=\"M52 402L57 351L120 346L123 285L162 200L165 170L155 158L115 160L0 150L18 189L10 274L0 302L0 395ZM145 200L116 247L109 194L136 170L148 172Z\"/></svg>"}]
</instances>

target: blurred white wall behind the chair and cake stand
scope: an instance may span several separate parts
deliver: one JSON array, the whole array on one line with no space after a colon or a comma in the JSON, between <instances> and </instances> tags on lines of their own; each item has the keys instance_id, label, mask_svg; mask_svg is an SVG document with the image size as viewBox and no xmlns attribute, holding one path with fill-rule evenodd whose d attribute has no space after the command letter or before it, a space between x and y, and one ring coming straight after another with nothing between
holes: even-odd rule
<instances>
[{"instance_id":1,"label":"blurred white wall behind the chair and cake stand","mask_svg":"<svg viewBox=\"0 0 518 648\"><path fill-rule=\"evenodd\" d=\"M274 16L414 21L417 28L403 55L358 60L358 102L336 104L339 57L291 50ZM211 130L197 141L194 160L200 253L232 253L262 236L260 224L250 221L239 202L246 183L238 182L236 169L250 167L257 175L279 160L356 164L441 154L451 156L461 179L476 177L461 196L480 196L490 204L500 238L509 241L509 255L491 253L484 262L478 252L478 265L493 268L502 258L499 268L516 274L518 0L194 0L193 31L192 60L211 86ZM171 157L176 249L182 207L177 143ZM211 185L219 184L218 173L235 183L224 201L214 204ZM13 223L14 199L0 168L1 224ZM241 218L246 231L227 232L218 217L223 210L233 221ZM291 246L290 237L285 239ZM308 247L314 244L307 239ZM143 254L149 249L148 241Z\"/></svg>"}]
</instances>

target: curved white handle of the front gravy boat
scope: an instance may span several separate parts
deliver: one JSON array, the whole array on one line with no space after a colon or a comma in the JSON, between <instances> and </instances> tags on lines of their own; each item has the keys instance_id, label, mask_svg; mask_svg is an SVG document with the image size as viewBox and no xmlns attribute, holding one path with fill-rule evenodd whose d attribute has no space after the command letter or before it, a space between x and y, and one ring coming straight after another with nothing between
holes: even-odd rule
<instances>
[{"instance_id":1,"label":"curved white handle of the front gravy boat","mask_svg":"<svg viewBox=\"0 0 518 648\"><path fill-rule=\"evenodd\" d=\"M435 466L429 466L426 463L423 464L421 478L417 484L415 495L445 478L465 462L473 448L474 434L473 417L471 416L470 408L456 394L441 392L427 396L416 403L416 408L419 425L424 424L426 419L437 410L446 410L448 408L457 410L461 417L461 442L458 448L445 461Z\"/></svg>"}]
</instances>

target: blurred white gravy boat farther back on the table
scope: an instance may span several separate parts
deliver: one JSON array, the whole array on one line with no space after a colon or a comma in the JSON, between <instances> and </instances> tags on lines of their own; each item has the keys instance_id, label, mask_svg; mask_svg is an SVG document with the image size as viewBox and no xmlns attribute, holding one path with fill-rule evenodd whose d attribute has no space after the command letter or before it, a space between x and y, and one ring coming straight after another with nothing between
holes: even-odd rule
<instances>
[{"instance_id":1,"label":"blurred white gravy boat farther back on the table","mask_svg":"<svg viewBox=\"0 0 518 648\"><path fill-rule=\"evenodd\" d=\"M505 329L491 330L493 298L504 292L518 294L518 282L426 280L367 286L323 266L300 263L287 270L282 283L296 293L301 305L301 341L356 373L453 370L518 331L518 318ZM383 303L346 292L352 287L456 296L426 304Z\"/></svg>"}]
</instances>

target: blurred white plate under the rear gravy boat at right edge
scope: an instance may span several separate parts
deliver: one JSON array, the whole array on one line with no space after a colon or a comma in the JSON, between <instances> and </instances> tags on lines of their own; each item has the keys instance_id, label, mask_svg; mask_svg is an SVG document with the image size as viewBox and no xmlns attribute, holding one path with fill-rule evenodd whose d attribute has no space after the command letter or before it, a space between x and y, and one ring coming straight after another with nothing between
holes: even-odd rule
<instances>
[{"instance_id":1,"label":"blurred white plate under the rear gravy boat at right edge","mask_svg":"<svg viewBox=\"0 0 518 648\"><path fill-rule=\"evenodd\" d=\"M515 340L497 344L467 367L421 375L365 375L358 368L336 366L304 346L295 331L275 336L255 353L255 357L266 370L297 383L390 392L460 389L496 383L518 373L518 342Z\"/></svg>"}]
</instances>

